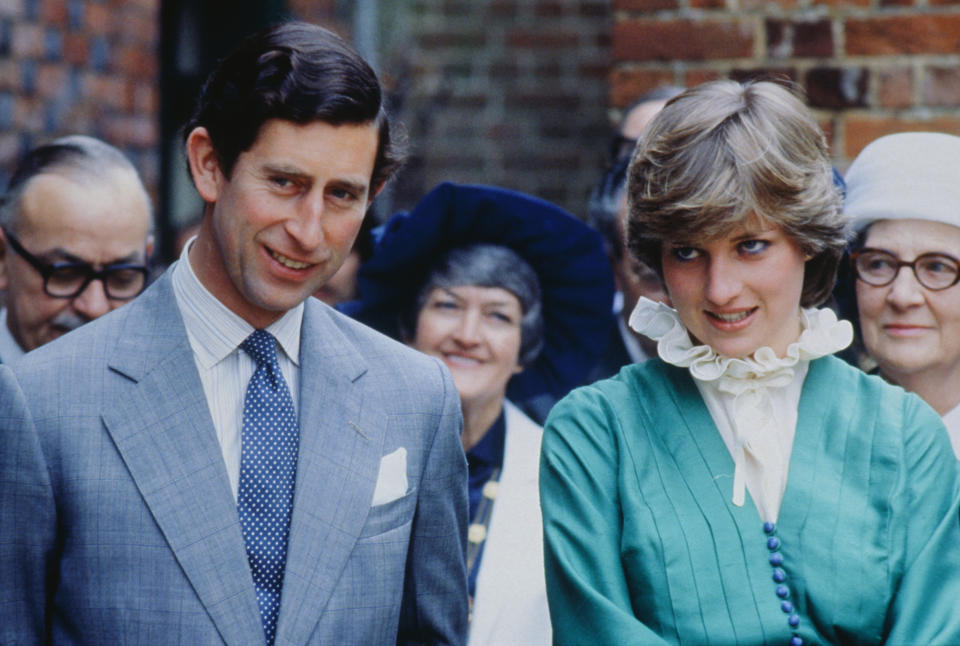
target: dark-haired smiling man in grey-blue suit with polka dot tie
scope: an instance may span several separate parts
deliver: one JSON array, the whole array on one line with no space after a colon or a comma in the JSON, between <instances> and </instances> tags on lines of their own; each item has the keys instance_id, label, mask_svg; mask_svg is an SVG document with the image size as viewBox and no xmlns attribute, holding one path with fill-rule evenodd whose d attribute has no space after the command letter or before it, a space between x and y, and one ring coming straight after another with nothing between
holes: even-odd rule
<instances>
[{"instance_id":1,"label":"dark-haired smiling man in grey-blue suit with polka dot tie","mask_svg":"<svg viewBox=\"0 0 960 646\"><path fill-rule=\"evenodd\" d=\"M309 298L397 162L376 77L288 23L185 134L180 260L0 367L0 643L462 643L457 391Z\"/></svg>"}]
</instances>

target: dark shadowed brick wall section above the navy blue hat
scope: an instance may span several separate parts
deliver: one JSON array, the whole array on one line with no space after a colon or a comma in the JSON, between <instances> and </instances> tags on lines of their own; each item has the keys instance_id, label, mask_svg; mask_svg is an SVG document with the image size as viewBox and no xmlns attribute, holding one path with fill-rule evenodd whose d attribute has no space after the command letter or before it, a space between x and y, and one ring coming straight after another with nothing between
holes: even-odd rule
<instances>
[{"instance_id":1,"label":"dark shadowed brick wall section above the navy blue hat","mask_svg":"<svg viewBox=\"0 0 960 646\"><path fill-rule=\"evenodd\" d=\"M609 0L413 0L381 67L410 135L407 207L496 184L582 215L607 142Z\"/></svg>"}]
</instances>

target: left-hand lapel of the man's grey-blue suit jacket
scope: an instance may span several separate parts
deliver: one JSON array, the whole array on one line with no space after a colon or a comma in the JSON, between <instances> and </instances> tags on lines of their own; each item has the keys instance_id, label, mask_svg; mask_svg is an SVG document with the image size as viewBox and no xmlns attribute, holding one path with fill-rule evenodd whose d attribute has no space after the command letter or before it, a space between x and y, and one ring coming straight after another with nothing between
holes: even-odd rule
<instances>
[{"instance_id":1,"label":"left-hand lapel of the man's grey-blue suit jacket","mask_svg":"<svg viewBox=\"0 0 960 646\"><path fill-rule=\"evenodd\" d=\"M236 504L170 272L128 307L104 424L224 642L262 644Z\"/></svg>"}]
</instances>

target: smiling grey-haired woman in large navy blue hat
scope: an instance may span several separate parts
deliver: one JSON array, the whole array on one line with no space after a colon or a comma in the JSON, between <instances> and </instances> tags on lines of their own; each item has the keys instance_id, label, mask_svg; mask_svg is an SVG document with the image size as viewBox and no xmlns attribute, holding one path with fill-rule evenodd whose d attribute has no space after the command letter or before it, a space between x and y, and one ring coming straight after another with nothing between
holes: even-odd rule
<instances>
[{"instance_id":1,"label":"smiling grey-haired woman in large navy blue hat","mask_svg":"<svg viewBox=\"0 0 960 646\"><path fill-rule=\"evenodd\" d=\"M444 184L385 226L358 275L361 320L439 359L463 411L470 646L551 643L526 397L584 380L612 317L598 234L513 191Z\"/></svg>"}]
</instances>

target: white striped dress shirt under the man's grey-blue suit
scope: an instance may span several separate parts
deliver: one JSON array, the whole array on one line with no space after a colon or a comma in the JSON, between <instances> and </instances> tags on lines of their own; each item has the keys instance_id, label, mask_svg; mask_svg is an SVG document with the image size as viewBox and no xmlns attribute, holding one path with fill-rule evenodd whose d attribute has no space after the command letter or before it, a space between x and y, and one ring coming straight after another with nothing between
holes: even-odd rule
<instances>
[{"instance_id":1,"label":"white striped dress shirt under the man's grey-blue suit","mask_svg":"<svg viewBox=\"0 0 960 646\"><path fill-rule=\"evenodd\" d=\"M247 384L257 364L240 344L254 328L230 311L207 290L190 266L189 250L193 239L184 245L180 260L173 267L173 293L187 328L187 338L200 372L203 392L223 451L230 488L236 499L240 486L240 438L243 428L243 400ZM286 312L266 330L277 339L280 371L290 388L293 406L300 410L300 324L303 303Z\"/></svg>"}]
</instances>

